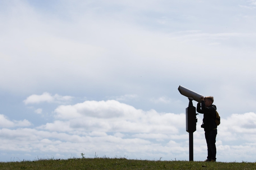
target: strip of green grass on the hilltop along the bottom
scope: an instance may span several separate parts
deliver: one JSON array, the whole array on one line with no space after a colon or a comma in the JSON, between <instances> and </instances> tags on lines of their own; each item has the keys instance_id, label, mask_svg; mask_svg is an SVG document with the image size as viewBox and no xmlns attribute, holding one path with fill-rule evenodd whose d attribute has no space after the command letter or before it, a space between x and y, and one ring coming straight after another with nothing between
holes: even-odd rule
<instances>
[{"instance_id":1,"label":"strip of green grass on the hilltop along the bottom","mask_svg":"<svg viewBox=\"0 0 256 170\"><path fill-rule=\"evenodd\" d=\"M39 159L0 162L0 170L255 170L251 162L149 161L126 158Z\"/></svg>"}]
</instances>

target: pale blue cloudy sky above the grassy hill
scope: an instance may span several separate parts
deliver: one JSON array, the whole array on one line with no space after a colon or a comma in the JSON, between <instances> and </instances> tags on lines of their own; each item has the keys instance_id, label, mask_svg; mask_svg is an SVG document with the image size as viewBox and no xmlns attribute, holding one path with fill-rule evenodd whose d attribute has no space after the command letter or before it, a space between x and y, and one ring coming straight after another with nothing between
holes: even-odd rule
<instances>
[{"instance_id":1,"label":"pale blue cloudy sky above the grassy hill","mask_svg":"<svg viewBox=\"0 0 256 170\"><path fill-rule=\"evenodd\" d=\"M0 25L0 161L188 161L179 85L214 96L217 161L256 161L256 0L0 0Z\"/></svg>"}]
</instances>

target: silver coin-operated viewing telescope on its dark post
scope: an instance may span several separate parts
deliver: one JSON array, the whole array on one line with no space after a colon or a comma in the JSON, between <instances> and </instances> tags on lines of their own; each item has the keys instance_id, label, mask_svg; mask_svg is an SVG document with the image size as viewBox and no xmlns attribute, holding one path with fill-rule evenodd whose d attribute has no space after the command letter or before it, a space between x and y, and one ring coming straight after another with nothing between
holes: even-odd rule
<instances>
[{"instance_id":1,"label":"silver coin-operated viewing telescope on its dark post","mask_svg":"<svg viewBox=\"0 0 256 170\"><path fill-rule=\"evenodd\" d=\"M179 86L178 90L179 93L188 97L189 100L188 107L186 108L186 131L189 133L189 161L193 161L193 132L196 131L197 113L192 100L201 103L200 97L202 95L182 86Z\"/></svg>"}]
</instances>

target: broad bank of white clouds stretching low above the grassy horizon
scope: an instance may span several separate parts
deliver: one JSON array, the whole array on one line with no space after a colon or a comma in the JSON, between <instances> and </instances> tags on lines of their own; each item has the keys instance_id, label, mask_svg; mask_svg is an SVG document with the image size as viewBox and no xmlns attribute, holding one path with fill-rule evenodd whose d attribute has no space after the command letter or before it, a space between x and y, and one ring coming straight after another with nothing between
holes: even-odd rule
<instances>
[{"instance_id":1,"label":"broad bank of white clouds stretching low above the grassy horizon","mask_svg":"<svg viewBox=\"0 0 256 170\"><path fill-rule=\"evenodd\" d=\"M99 156L126 155L131 159L188 159L188 133L183 113L143 111L116 100L61 105L54 113L52 123L35 129L13 130L8 127L13 127L16 121L12 123L1 115L0 120L6 122L7 128L0 129L0 149L22 151L27 155L34 152L58 154L64 158L70 153L93 157L97 152ZM204 159L207 151L200 119L198 116L194 133L194 159L198 161ZM251 159L254 155L251 150L256 148L254 119L256 114L252 112L221 118L216 142L218 161L245 161L245 158L254 161ZM22 123L26 121L20 121L19 125Z\"/></svg>"}]
</instances>

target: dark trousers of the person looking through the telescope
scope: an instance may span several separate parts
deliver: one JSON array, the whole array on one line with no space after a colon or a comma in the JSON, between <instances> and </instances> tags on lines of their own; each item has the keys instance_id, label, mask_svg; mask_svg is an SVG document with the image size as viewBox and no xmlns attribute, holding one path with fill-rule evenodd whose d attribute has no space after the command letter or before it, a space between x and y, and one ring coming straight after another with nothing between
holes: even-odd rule
<instances>
[{"instance_id":1,"label":"dark trousers of the person looking through the telescope","mask_svg":"<svg viewBox=\"0 0 256 170\"><path fill-rule=\"evenodd\" d=\"M210 130L204 133L206 143L207 143L207 151L208 156L207 160L216 160L216 136L217 136L217 129Z\"/></svg>"}]
</instances>

